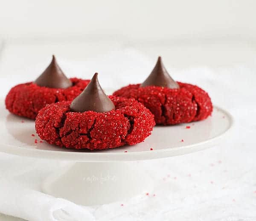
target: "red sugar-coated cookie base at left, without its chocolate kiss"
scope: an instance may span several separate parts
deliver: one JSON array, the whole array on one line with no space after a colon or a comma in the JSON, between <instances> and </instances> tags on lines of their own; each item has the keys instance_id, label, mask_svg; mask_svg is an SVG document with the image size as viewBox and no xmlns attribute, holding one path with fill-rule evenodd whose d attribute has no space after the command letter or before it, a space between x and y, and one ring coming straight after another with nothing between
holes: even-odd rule
<instances>
[{"instance_id":1,"label":"red sugar-coated cookie base at left, without its chocolate kiss","mask_svg":"<svg viewBox=\"0 0 256 221\"><path fill-rule=\"evenodd\" d=\"M35 119L41 108L58 101L72 101L90 82L78 78L70 80L73 86L65 89L41 87L33 82L16 85L6 96L6 109L16 115Z\"/></svg>"}]
</instances>

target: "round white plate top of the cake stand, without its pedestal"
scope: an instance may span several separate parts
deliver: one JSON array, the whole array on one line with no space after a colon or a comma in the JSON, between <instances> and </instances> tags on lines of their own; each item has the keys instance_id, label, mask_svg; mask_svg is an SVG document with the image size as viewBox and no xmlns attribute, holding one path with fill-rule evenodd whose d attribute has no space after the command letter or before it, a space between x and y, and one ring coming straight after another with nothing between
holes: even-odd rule
<instances>
[{"instance_id":1,"label":"round white plate top of the cake stand, without its pedestal","mask_svg":"<svg viewBox=\"0 0 256 221\"><path fill-rule=\"evenodd\" d=\"M77 151L56 147L45 141L40 143L35 132L35 122L9 113L3 103L0 107L1 152L67 161L136 161L192 153L221 142L233 125L233 118L227 111L214 107L212 116L204 121L156 126L145 142L134 146ZM35 143L35 139L38 143Z\"/></svg>"}]
</instances>

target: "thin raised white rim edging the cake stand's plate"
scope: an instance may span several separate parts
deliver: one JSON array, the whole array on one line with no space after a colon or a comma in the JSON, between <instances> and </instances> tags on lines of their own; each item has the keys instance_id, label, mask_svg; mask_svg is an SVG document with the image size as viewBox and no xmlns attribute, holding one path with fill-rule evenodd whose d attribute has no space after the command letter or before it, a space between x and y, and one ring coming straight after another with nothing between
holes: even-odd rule
<instances>
[{"instance_id":1,"label":"thin raised white rim edging the cake stand's plate","mask_svg":"<svg viewBox=\"0 0 256 221\"><path fill-rule=\"evenodd\" d=\"M60 151L60 150L41 150L36 148L22 148L19 146L14 146L11 144L3 144L0 143L0 152L9 153L16 156L26 156L32 158L41 158L41 159L55 159L55 160L64 160L64 161L76 161L76 162L110 162L110 161L140 161L140 160L149 160L149 159L159 159L159 158L166 158L166 157L173 157L179 156L188 153L194 153L198 150L204 150L213 145L219 143L218 141L226 137L233 129L234 125L234 118L232 114L228 111L220 108L218 105L213 106L215 109L218 109L225 113L226 116L229 118L229 127L223 133L214 136L210 139L207 139L202 142L183 145L181 147L169 147L160 150L144 150L144 151L137 151L137 152L76 152L76 151ZM205 147L202 147L204 146ZM198 147L198 148L196 148ZM118 147L117 147L118 148ZM185 150L184 153L179 153ZM186 150L189 150L186 152ZM191 150L191 151L190 151ZM177 152L178 154L170 154ZM166 156L164 154L168 153ZM69 155L69 156L68 156ZM99 159L89 159L91 156L96 155ZM144 157L143 157L144 155ZM122 158L120 158L122 156ZM134 157L134 159L133 159Z\"/></svg>"}]
</instances>

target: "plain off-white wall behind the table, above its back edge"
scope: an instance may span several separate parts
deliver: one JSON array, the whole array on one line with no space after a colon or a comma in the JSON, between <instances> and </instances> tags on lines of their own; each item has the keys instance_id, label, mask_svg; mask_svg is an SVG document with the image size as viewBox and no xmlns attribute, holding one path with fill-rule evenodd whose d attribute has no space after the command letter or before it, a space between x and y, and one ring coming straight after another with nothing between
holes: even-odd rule
<instances>
[{"instance_id":1,"label":"plain off-white wall behind the table, above its back edge","mask_svg":"<svg viewBox=\"0 0 256 221\"><path fill-rule=\"evenodd\" d=\"M256 36L254 0L1 1L3 37L169 40ZM97 36L96 36L97 35Z\"/></svg>"}]
</instances>

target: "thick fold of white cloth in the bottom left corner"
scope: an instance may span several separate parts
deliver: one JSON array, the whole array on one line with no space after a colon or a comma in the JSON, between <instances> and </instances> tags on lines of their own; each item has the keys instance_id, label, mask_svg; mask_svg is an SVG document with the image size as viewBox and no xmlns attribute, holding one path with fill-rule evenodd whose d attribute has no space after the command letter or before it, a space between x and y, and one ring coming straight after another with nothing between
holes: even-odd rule
<instances>
[{"instance_id":1,"label":"thick fold of white cloth in the bottom left corner","mask_svg":"<svg viewBox=\"0 0 256 221\"><path fill-rule=\"evenodd\" d=\"M93 221L94 216L70 201L54 198L12 181L0 180L0 212L29 221Z\"/></svg>"}]
</instances>

